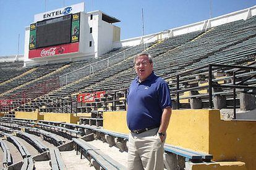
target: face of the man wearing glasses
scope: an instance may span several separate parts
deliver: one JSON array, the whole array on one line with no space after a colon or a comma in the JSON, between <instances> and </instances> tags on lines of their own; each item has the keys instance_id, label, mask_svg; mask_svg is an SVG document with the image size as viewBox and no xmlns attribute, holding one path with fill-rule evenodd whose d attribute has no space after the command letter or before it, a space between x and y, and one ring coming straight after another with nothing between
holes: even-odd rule
<instances>
[{"instance_id":1,"label":"face of the man wearing glasses","mask_svg":"<svg viewBox=\"0 0 256 170\"><path fill-rule=\"evenodd\" d=\"M153 63L150 63L147 55L140 55L135 60L135 70L140 78L140 81L144 81L153 71Z\"/></svg>"}]
</instances>

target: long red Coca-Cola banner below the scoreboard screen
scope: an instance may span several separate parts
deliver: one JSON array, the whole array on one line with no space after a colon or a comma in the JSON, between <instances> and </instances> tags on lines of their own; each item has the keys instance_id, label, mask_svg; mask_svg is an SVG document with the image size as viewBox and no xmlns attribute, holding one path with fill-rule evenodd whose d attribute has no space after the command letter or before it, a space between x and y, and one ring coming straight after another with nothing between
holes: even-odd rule
<instances>
[{"instance_id":1,"label":"long red Coca-Cola banner below the scoreboard screen","mask_svg":"<svg viewBox=\"0 0 256 170\"><path fill-rule=\"evenodd\" d=\"M28 52L28 59L34 59L38 57L49 57L59 54L68 54L71 52L79 51L79 42L62 44L59 46L51 46L40 49L33 49Z\"/></svg>"}]
</instances>

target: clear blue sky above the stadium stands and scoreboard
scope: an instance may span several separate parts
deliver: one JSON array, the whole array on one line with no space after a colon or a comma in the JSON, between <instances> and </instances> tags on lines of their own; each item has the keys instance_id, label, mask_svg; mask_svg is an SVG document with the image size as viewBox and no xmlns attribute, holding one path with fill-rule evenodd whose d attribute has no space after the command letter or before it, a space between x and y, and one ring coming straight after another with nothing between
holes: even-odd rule
<instances>
[{"instance_id":1,"label":"clear blue sky above the stadium stands and scoreboard","mask_svg":"<svg viewBox=\"0 0 256 170\"><path fill-rule=\"evenodd\" d=\"M23 54L25 27L34 15L85 2L85 12L101 10L121 22L121 39L157 33L210 18L210 0L0 0L0 57ZM212 17L256 5L256 0L212 0ZM20 34L20 38L19 38ZM19 51L18 51L19 44Z\"/></svg>"}]
</instances>

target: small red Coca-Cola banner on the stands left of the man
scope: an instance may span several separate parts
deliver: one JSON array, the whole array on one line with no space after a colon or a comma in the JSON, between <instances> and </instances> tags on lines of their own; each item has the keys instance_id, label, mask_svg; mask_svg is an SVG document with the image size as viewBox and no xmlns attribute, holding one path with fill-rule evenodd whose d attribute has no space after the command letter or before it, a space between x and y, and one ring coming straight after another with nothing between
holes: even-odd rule
<instances>
[{"instance_id":1,"label":"small red Coca-Cola banner on the stands left of the man","mask_svg":"<svg viewBox=\"0 0 256 170\"><path fill-rule=\"evenodd\" d=\"M77 95L77 102L95 102L95 99L104 97L105 91L84 93Z\"/></svg>"}]
</instances>

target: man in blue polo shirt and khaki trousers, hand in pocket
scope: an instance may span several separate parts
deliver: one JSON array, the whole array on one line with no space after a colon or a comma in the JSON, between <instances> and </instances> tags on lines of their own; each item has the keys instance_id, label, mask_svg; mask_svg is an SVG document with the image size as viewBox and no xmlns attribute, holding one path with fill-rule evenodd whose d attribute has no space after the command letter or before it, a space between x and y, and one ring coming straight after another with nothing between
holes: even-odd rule
<instances>
[{"instance_id":1,"label":"man in blue polo shirt and khaki trousers, hand in pocket","mask_svg":"<svg viewBox=\"0 0 256 170\"><path fill-rule=\"evenodd\" d=\"M163 146L171 117L169 87L153 73L150 55L137 55L134 65L138 76L127 96L128 169L164 169Z\"/></svg>"}]
</instances>

